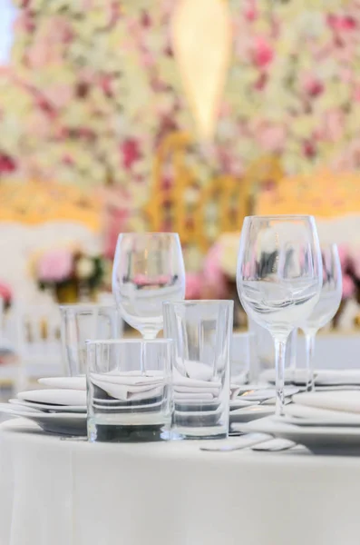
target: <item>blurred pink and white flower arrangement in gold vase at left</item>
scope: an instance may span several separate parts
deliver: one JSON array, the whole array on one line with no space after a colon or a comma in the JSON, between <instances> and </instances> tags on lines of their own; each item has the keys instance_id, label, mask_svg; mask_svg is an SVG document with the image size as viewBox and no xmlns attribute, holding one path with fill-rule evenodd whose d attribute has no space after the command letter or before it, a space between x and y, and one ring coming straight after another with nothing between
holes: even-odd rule
<instances>
[{"instance_id":1,"label":"blurred pink and white flower arrangement in gold vase at left","mask_svg":"<svg viewBox=\"0 0 360 545\"><path fill-rule=\"evenodd\" d=\"M40 289L54 292L59 302L76 302L92 298L102 285L104 265L100 256L79 249L56 248L38 257L34 273Z\"/></svg>"}]
</instances>

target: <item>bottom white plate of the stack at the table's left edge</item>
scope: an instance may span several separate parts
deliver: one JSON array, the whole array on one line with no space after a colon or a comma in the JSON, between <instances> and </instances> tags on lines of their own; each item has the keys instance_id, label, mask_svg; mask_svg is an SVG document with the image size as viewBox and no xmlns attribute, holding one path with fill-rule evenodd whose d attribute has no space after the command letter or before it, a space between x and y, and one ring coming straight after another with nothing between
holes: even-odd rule
<instances>
[{"instance_id":1,"label":"bottom white plate of the stack at the table's left edge","mask_svg":"<svg viewBox=\"0 0 360 545\"><path fill-rule=\"evenodd\" d=\"M21 405L0 406L0 411L36 422L44 431L59 435L86 435L86 414L75 412L40 412Z\"/></svg>"}]
</instances>

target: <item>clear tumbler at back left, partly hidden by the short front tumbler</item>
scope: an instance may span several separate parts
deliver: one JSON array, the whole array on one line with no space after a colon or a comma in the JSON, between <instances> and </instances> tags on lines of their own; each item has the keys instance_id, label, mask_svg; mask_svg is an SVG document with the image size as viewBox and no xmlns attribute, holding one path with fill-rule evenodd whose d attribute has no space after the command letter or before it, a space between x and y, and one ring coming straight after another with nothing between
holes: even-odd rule
<instances>
[{"instance_id":1,"label":"clear tumbler at back left, partly hidden by the short front tumbler","mask_svg":"<svg viewBox=\"0 0 360 545\"><path fill-rule=\"evenodd\" d=\"M86 374L88 339L120 339L122 317L115 306L64 304L62 317L63 363L71 376Z\"/></svg>"}]
</instances>

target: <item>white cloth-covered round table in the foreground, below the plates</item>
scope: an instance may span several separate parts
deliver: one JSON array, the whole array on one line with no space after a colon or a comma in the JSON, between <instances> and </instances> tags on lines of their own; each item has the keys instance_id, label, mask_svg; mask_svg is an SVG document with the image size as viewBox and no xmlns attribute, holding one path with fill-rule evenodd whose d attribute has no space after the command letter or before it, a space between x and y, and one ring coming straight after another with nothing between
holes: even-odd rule
<instances>
[{"instance_id":1,"label":"white cloth-covered round table in the foreground, below the plates","mask_svg":"<svg viewBox=\"0 0 360 545\"><path fill-rule=\"evenodd\" d=\"M1 545L358 545L359 490L357 458L0 426Z\"/></svg>"}]
</instances>

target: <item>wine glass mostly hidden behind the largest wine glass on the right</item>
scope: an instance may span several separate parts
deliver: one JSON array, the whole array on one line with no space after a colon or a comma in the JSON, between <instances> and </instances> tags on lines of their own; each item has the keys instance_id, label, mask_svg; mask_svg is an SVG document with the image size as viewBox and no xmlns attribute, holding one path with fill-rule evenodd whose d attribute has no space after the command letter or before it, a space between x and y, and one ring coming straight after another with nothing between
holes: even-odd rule
<instances>
[{"instance_id":1,"label":"wine glass mostly hidden behind the largest wine glass on the right","mask_svg":"<svg viewBox=\"0 0 360 545\"><path fill-rule=\"evenodd\" d=\"M313 311L299 324L306 339L306 391L314 390L314 351L316 333L330 322L340 306L343 281L336 244L322 246L323 287Z\"/></svg>"}]
</instances>

